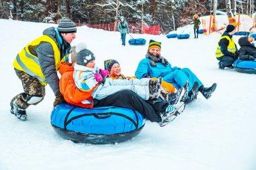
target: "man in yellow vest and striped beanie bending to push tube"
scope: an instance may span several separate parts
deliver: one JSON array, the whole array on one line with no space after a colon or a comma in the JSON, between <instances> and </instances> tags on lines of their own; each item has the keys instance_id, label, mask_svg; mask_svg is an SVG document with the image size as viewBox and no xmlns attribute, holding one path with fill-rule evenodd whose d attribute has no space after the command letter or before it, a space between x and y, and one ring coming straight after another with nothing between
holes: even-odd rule
<instances>
[{"instance_id":1,"label":"man in yellow vest and striped beanie bending to push tube","mask_svg":"<svg viewBox=\"0 0 256 170\"><path fill-rule=\"evenodd\" d=\"M71 42L77 28L70 19L63 19L57 28L47 28L43 36L36 38L16 56L13 67L22 81L24 92L11 99L11 114L20 120L27 120L26 108L36 105L45 95L45 85L49 83L55 93L53 105L65 100L59 92L59 63L67 61Z\"/></svg>"}]
</instances>

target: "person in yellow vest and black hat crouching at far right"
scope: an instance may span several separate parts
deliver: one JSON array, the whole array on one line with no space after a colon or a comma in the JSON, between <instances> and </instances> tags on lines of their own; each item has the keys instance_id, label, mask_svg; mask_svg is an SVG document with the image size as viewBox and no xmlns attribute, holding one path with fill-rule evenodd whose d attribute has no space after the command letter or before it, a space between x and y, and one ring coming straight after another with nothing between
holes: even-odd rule
<instances>
[{"instance_id":1,"label":"person in yellow vest and black hat crouching at far right","mask_svg":"<svg viewBox=\"0 0 256 170\"><path fill-rule=\"evenodd\" d=\"M228 25L226 31L222 34L222 37L218 42L216 58L220 61L218 62L219 69L224 69L225 67L233 69L232 64L234 60L238 58L238 50L232 38L234 32L234 26Z\"/></svg>"}]
</instances>

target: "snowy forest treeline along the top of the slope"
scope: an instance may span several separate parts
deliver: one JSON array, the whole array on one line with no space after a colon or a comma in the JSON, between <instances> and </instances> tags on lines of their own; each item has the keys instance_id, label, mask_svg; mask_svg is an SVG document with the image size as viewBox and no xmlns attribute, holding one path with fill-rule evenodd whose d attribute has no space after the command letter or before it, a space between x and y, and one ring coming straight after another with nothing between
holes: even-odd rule
<instances>
[{"instance_id":1,"label":"snowy forest treeline along the top of the slope","mask_svg":"<svg viewBox=\"0 0 256 170\"><path fill-rule=\"evenodd\" d=\"M253 15L255 7L255 0L0 0L0 18L59 22L69 17L80 24L108 24L123 15L128 23L159 24L161 32L169 32L191 23L194 14Z\"/></svg>"}]
</instances>

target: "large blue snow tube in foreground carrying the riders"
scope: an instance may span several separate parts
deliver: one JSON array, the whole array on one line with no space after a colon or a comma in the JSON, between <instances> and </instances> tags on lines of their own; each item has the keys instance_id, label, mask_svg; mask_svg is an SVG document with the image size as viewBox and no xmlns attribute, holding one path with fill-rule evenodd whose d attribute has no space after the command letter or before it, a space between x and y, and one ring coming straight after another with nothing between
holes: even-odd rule
<instances>
[{"instance_id":1,"label":"large blue snow tube in foreground carrying the riders","mask_svg":"<svg viewBox=\"0 0 256 170\"><path fill-rule=\"evenodd\" d=\"M51 124L57 134L73 142L108 144L123 142L139 134L145 118L127 108L86 109L62 103L53 109Z\"/></svg>"}]
</instances>

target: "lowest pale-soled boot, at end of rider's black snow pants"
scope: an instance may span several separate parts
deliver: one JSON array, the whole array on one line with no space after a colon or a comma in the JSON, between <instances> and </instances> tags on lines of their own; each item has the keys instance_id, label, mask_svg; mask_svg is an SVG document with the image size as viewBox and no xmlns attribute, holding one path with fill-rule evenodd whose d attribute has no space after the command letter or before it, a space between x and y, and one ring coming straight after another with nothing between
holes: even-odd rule
<instances>
[{"instance_id":1,"label":"lowest pale-soled boot, at end of rider's black snow pants","mask_svg":"<svg viewBox=\"0 0 256 170\"><path fill-rule=\"evenodd\" d=\"M179 102L175 105L168 105L165 112L160 113L161 122L158 122L159 126L163 127L166 124L172 122L179 114L185 110L185 103Z\"/></svg>"}]
</instances>

